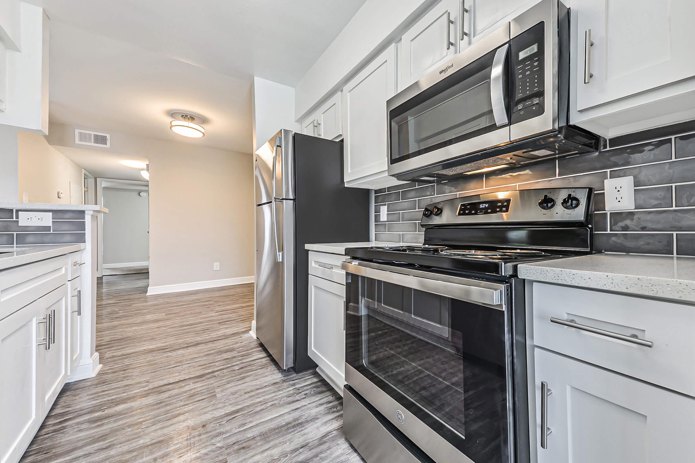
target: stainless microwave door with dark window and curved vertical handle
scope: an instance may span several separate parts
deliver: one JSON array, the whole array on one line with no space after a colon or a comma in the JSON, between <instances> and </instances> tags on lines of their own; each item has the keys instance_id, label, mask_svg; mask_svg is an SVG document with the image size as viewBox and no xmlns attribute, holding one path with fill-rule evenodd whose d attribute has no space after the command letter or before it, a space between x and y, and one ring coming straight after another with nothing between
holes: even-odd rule
<instances>
[{"instance_id":1,"label":"stainless microwave door with dark window and curved vertical handle","mask_svg":"<svg viewBox=\"0 0 695 463\"><path fill-rule=\"evenodd\" d=\"M389 99L389 175L509 143L509 28Z\"/></svg>"}]
</instances>

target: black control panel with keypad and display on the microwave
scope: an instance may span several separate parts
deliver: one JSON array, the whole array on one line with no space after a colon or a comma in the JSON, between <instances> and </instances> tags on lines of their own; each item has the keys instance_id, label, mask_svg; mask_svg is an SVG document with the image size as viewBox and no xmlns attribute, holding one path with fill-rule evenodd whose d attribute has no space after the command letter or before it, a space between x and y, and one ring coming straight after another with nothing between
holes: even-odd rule
<instances>
[{"instance_id":1,"label":"black control panel with keypad and display on the microwave","mask_svg":"<svg viewBox=\"0 0 695 463\"><path fill-rule=\"evenodd\" d=\"M545 112L545 23L512 39L512 124Z\"/></svg>"}]
</instances>

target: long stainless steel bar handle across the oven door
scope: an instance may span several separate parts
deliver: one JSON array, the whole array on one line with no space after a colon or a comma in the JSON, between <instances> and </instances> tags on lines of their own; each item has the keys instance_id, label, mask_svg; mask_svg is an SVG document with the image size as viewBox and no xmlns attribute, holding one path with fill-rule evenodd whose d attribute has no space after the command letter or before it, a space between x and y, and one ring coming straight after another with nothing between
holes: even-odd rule
<instances>
[{"instance_id":1,"label":"long stainless steel bar handle across the oven door","mask_svg":"<svg viewBox=\"0 0 695 463\"><path fill-rule=\"evenodd\" d=\"M385 271L373 269L364 265L353 264L351 262L343 262L341 264L343 270L353 273L354 275L365 276L366 278L374 278L375 280L393 283L419 291L440 296L459 299L460 301L469 301L480 303L488 306L499 306L496 308L504 308L504 300L502 298L501 289L491 289L477 286L469 286L462 283L450 283L448 281L432 280L430 278L421 278L419 276L405 275L396 273L395 271Z\"/></svg>"}]
</instances>

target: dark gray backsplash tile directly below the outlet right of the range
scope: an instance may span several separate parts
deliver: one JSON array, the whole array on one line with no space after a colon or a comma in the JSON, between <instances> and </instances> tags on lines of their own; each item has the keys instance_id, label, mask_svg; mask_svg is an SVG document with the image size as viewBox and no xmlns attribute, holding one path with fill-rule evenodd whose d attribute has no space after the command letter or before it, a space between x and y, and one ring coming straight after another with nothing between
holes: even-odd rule
<instances>
[{"instance_id":1,"label":"dark gray backsplash tile directly below the outlet right of the range","mask_svg":"<svg viewBox=\"0 0 695 463\"><path fill-rule=\"evenodd\" d=\"M611 212L612 231L695 231L695 209Z\"/></svg>"}]
</instances>

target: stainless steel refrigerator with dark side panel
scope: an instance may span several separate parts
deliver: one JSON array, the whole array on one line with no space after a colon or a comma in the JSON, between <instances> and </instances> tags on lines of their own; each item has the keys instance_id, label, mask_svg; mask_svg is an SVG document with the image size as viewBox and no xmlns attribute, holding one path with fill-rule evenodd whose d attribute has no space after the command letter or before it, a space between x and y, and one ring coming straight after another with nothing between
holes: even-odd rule
<instances>
[{"instance_id":1,"label":"stainless steel refrigerator with dark side panel","mask_svg":"<svg viewBox=\"0 0 695 463\"><path fill-rule=\"evenodd\" d=\"M384 153L385 155L385 153ZM369 192L343 183L343 143L279 131L254 155L256 336L282 369L308 355L308 243L369 237Z\"/></svg>"}]
</instances>

